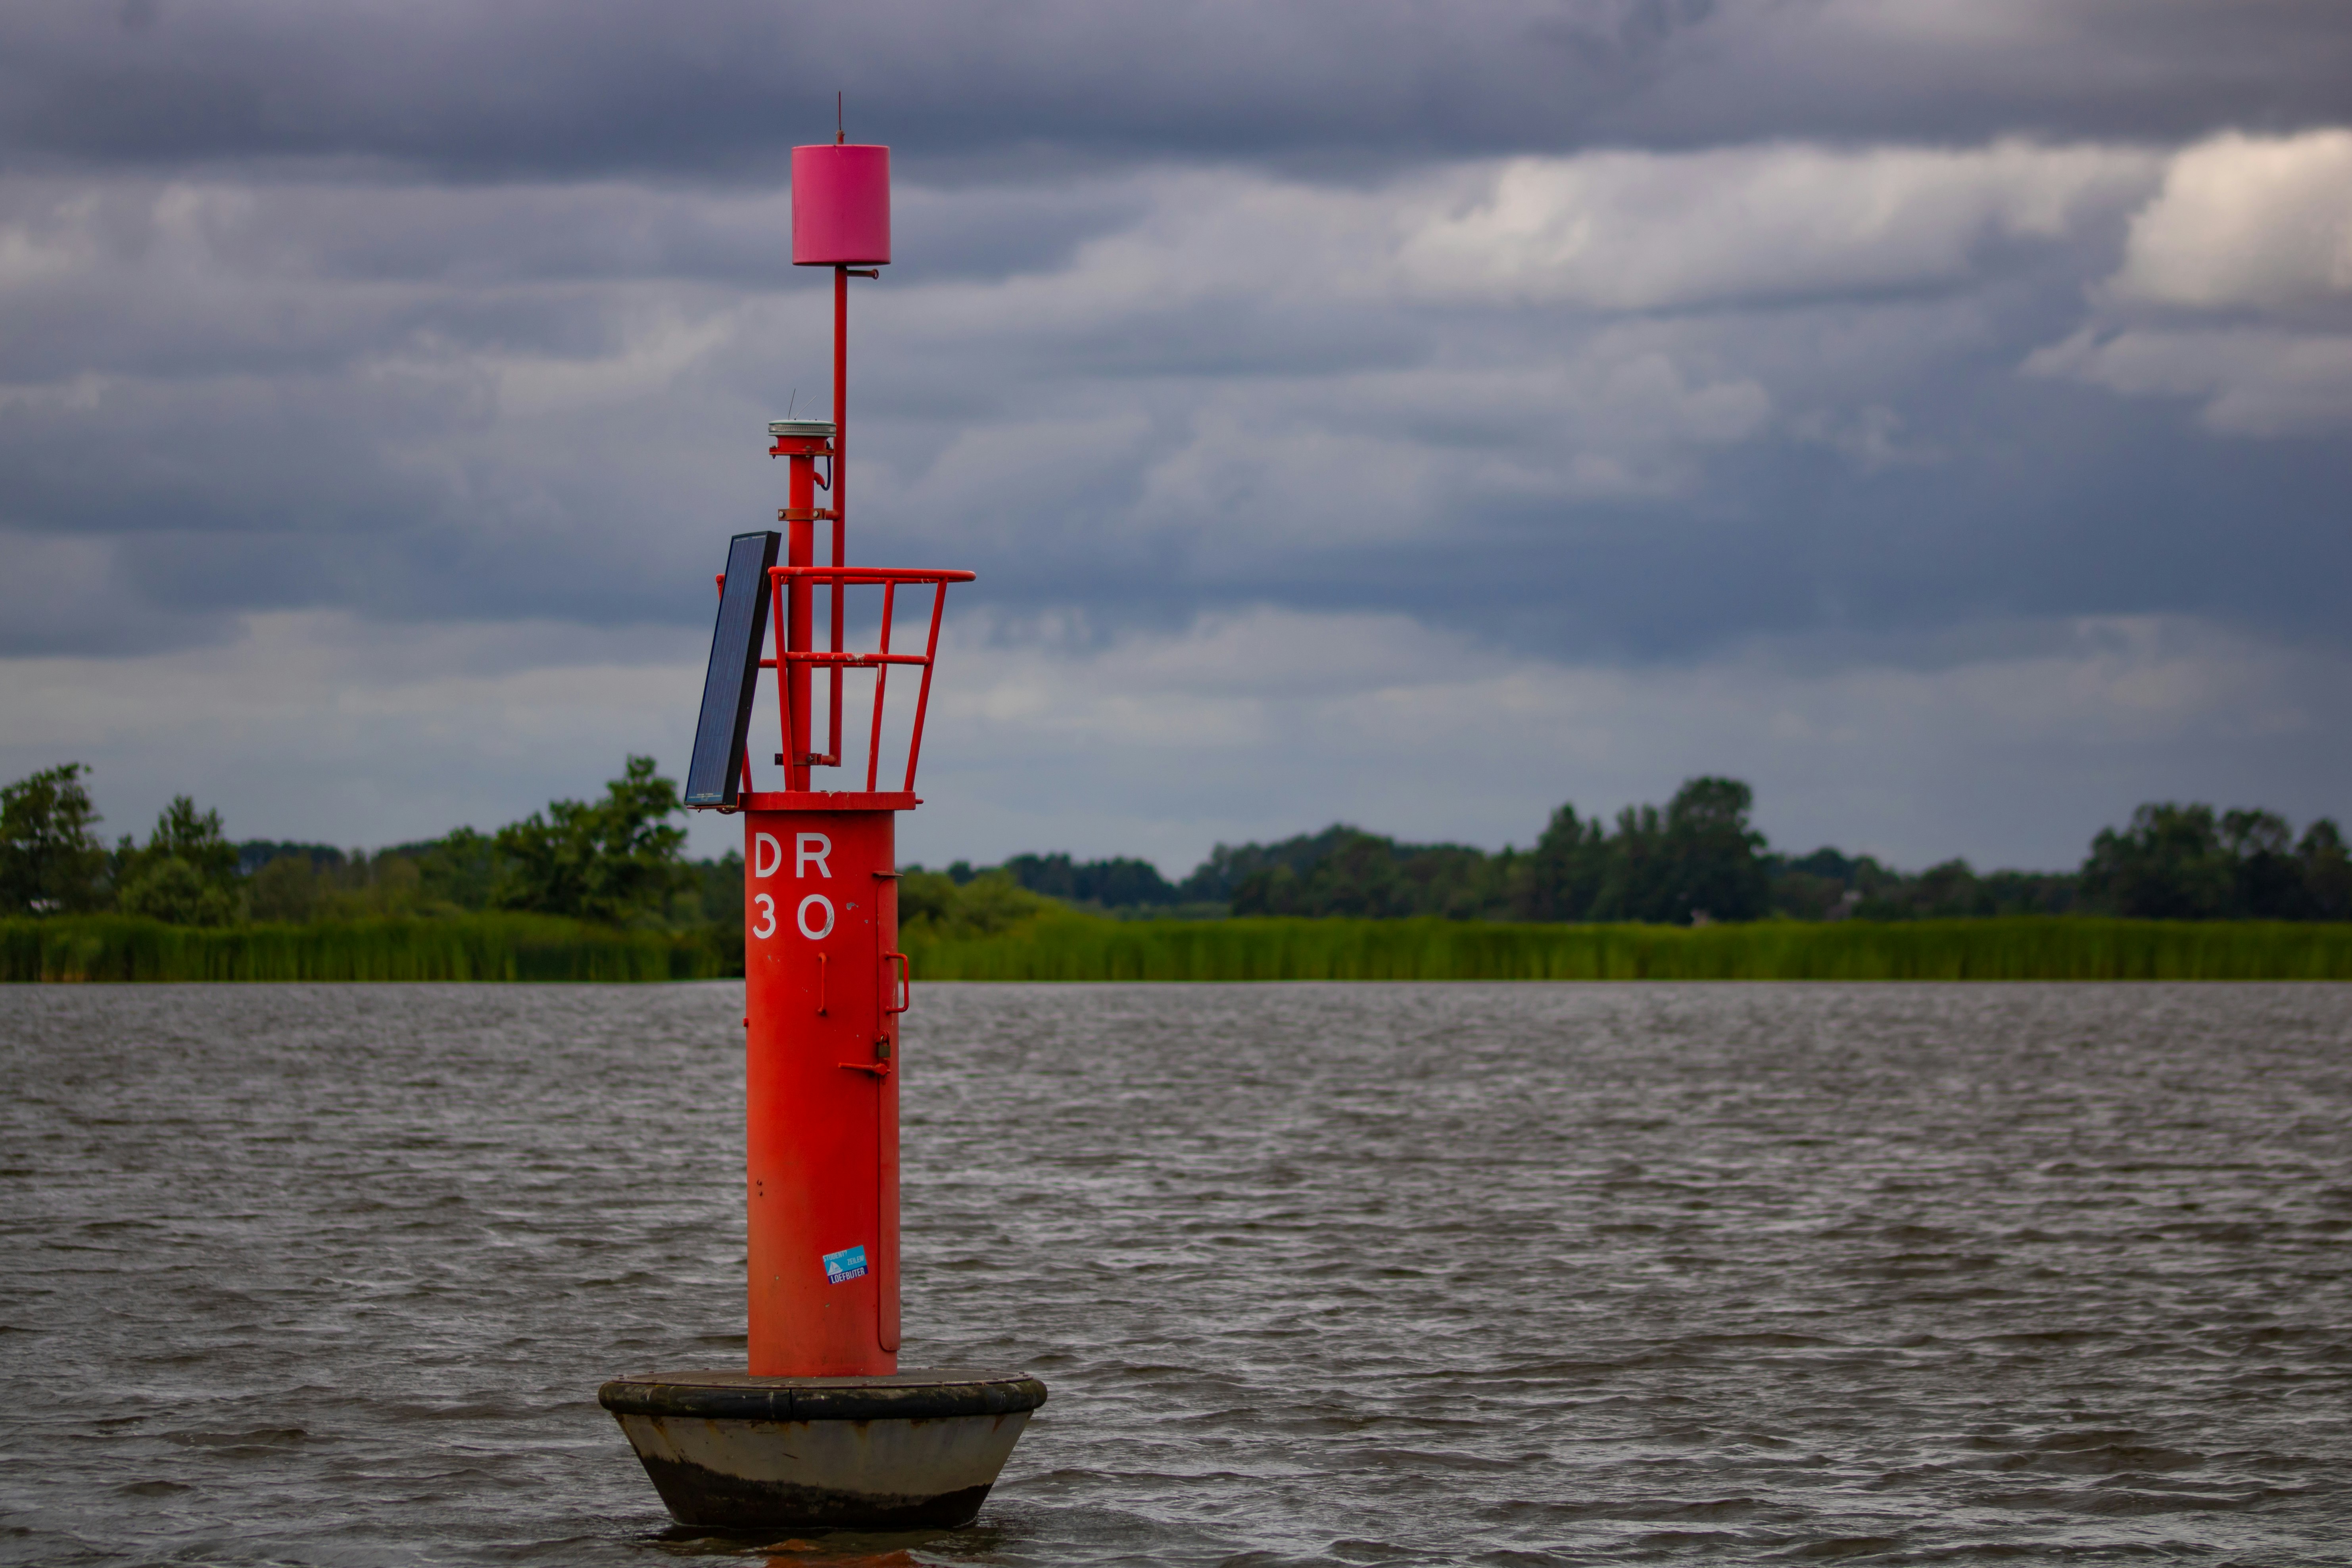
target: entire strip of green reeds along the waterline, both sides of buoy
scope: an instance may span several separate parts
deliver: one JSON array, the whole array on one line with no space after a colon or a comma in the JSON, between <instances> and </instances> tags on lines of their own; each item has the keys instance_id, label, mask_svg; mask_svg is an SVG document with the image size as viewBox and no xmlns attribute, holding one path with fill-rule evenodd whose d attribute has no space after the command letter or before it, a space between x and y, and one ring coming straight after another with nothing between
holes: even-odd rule
<instances>
[{"instance_id":1,"label":"entire strip of green reeds along the waterline, both sides of buoy","mask_svg":"<svg viewBox=\"0 0 2352 1568\"><path fill-rule=\"evenodd\" d=\"M2093 917L1684 929L1044 914L1000 936L917 924L901 945L917 980L2352 980L2352 924ZM546 914L228 929L122 914L0 922L0 983L739 973L741 936L715 926L616 931Z\"/></svg>"}]
</instances>

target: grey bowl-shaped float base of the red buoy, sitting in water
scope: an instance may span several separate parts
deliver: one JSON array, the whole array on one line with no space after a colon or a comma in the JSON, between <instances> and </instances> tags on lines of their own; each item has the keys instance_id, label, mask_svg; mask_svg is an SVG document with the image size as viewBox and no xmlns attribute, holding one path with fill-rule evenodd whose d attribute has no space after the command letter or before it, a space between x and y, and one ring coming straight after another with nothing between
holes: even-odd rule
<instances>
[{"instance_id":1,"label":"grey bowl-shaped float base of the red buoy, sitting in water","mask_svg":"<svg viewBox=\"0 0 2352 1568\"><path fill-rule=\"evenodd\" d=\"M677 1523L915 1530L971 1523L1044 1385L1009 1373L614 1378L597 1403Z\"/></svg>"}]
</instances>

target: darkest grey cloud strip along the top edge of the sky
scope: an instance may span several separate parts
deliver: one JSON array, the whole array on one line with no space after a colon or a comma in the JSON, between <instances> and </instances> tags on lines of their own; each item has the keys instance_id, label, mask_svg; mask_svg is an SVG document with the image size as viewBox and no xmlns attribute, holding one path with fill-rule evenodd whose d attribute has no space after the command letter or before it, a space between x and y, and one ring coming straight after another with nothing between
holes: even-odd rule
<instances>
[{"instance_id":1,"label":"darkest grey cloud strip along the top edge of the sky","mask_svg":"<svg viewBox=\"0 0 2352 1568\"><path fill-rule=\"evenodd\" d=\"M2336 0L21 0L0 146L35 162L390 160L466 179L760 179L854 134L985 169L1700 146L2178 141L2352 118Z\"/></svg>"}]
</instances>

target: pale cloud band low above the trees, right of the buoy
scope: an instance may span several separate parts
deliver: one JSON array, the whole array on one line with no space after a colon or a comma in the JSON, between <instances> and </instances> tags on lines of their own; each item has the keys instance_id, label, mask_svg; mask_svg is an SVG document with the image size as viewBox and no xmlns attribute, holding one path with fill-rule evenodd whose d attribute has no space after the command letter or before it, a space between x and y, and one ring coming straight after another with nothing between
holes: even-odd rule
<instances>
[{"instance_id":1,"label":"pale cloud band low above the trees, right of the buoy","mask_svg":"<svg viewBox=\"0 0 2352 1568\"><path fill-rule=\"evenodd\" d=\"M971 628L967 625L967 632ZM1352 820L1526 844L1562 799L1759 790L1780 846L2072 865L2150 797L2343 813L2352 665L2194 618L2020 623L1973 651L1757 642L1677 668L1496 651L1404 616L1275 607L1108 649L943 654L910 856L1148 853Z\"/></svg>"}]
</instances>

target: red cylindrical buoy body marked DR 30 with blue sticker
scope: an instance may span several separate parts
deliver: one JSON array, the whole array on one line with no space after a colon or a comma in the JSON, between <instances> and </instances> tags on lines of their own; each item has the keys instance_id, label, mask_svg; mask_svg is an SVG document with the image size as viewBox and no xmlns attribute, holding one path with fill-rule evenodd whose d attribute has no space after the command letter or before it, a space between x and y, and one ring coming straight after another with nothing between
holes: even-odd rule
<instances>
[{"instance_id":1,"label":"red cylindrical buoy body marked DR 30 with blue sticker","mask_svg":"<svg viewBox=\"0 0 2352 1568\"><path fill-rule=\"evenodd\" d=\"M898 1371L894 820L743 813L753 1375Z\"/></svg>"}]
</instances>

